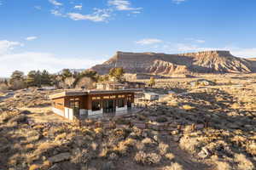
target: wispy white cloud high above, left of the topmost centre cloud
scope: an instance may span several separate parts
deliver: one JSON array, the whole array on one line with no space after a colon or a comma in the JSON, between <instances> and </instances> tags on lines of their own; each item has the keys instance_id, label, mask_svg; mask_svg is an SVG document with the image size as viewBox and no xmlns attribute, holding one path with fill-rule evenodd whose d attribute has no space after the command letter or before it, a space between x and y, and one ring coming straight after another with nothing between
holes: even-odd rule
<instances>
[{"instance_id":1,"label":"wispy white cloud high above, left of the topmost centre cloud","mask_svg":"<svg viewBox=\"0 0 256 170\"><path fill-rule=\"evenodd\" d=\"M68 13L67 15L72 20L91 20L94 22L106 22L111 17L111 10L109 9L95 8L94 10L93 14Z\"/></svg>"}]
</instances>

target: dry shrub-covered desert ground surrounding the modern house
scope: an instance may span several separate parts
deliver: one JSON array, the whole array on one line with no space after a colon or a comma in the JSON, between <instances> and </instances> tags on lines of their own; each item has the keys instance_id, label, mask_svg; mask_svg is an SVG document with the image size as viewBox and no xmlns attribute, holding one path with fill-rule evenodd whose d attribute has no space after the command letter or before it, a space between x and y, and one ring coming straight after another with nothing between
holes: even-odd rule
<instances>
[{"instance_id":1,"label":"dry shrub-covered desert ground surrounding the modern house","mask_svg":"<svg viewBox=\"0 0 256 170\"><path fill-rule=\"evenodd\" d=\"M15 91L0 100L0 169L255 169L256 74L158 79L146 91L160 99L137 99L143 111L115 127L56 116L57 91Z\"/></svg>"}]
</instances>

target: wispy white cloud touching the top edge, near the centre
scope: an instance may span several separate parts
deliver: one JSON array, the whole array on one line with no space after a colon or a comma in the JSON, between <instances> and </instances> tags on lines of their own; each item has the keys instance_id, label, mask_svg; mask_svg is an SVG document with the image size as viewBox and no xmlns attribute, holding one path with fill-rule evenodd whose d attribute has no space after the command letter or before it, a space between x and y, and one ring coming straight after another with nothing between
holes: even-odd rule
<instances>
[{"instance_id":1,"label":"wispy white cloud touching the top edge, near the centre","mask_svg":"<svg viewBox=\"0 0 256 170\"><path fill-rule=\"evenodd\" d=\"M143 8L132 8L127 0L108 0L109 5L113 5L117 10L141 10Z\"/></svg>"}]
</instances>

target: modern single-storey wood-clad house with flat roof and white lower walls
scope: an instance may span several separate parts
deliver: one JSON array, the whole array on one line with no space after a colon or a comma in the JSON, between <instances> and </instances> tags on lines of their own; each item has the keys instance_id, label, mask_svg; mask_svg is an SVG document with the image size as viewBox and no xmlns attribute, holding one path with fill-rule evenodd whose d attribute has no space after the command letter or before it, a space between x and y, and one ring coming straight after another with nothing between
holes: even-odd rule
<instances>
[{"instance_id":1,"label":"modern single-storey wood-clad house with flat roof and white lower walls","mask_svg":"<svg viewBox=\"0 0 256 170\"><path fill-rule=\"evenodd\" d=\"M84 116L128 111L134 107L134 94L138 89L64 91L50 95L53 111L74 120Z\"/></svg>"}]
</instances>

